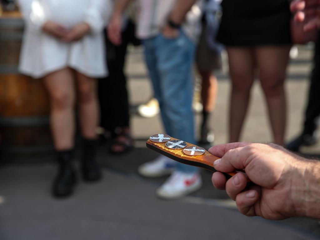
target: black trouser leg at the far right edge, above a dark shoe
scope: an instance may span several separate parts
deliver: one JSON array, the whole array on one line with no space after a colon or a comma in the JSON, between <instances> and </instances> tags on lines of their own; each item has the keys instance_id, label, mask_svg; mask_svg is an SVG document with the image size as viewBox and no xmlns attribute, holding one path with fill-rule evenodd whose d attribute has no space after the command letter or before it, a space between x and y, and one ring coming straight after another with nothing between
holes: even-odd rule
<instances>
[{"instance_id":1,"label":"black trouser leg at the far right edge, above a dark shoe","mask_svg":"<svg viewBox=\"0 0 320 240\"><path fill-rule=\"evenodd\" d=\"M316 131L320 116L320 36L316 42L313 61L314 66L310 77L308 105L303 128L304 134L312 134Z\"/></svg>"}]
</instances>

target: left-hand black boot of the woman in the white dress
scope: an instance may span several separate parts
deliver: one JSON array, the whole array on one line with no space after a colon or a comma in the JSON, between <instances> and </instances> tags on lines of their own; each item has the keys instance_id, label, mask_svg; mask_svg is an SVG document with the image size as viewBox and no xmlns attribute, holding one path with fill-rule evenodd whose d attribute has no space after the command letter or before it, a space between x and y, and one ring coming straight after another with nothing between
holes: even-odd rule
<instances>
[{"instance_id":1,"label":"left-hand black boot of the woman in the white dress","mask_svg":"<svg viewBox=\"0 0 320 240\"><path fill-rule=\"evenodd\" d=\"M53 182L52 194L56 197L68 196L76 184L76 173L72 151L58 151L58 174Z\"/></svg>"}]
</instances>

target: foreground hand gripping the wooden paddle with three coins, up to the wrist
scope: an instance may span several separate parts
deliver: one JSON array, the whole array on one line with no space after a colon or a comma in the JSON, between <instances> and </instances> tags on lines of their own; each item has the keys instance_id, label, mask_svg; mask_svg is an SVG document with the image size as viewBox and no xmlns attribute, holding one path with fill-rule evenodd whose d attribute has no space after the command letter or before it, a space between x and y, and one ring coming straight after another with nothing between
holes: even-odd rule
<instances>
[{"instance_id":1,"label":"foreground hand gripping the wooden paddle with three coins, up to the wrist","mask_svg":"<svg viewBox=\"0 0 320 240\"><path fill-rule=\"evenodd\" d=\"M221 157L214 162L220 172L213 173L213 186L226 189L241 213L274 220L300 214L292 186L303 187L300 186L305 170L302 157L275 144L257 143L229 143L212 147L209 152ZM255 185L246 188L244 173L238 172L228 181L221 173L235 169L244 169Z\"/></svg>"}]
</instances>

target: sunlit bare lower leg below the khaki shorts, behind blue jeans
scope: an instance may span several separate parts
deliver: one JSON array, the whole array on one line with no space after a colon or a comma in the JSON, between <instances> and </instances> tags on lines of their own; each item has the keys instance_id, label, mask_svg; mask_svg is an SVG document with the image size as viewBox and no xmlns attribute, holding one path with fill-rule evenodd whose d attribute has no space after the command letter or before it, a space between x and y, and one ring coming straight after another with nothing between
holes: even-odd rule
<instances>
[{"instance_id":1,"label":"sunlit bare lower leg below the khaki shorts, behind blue jeans","mask_svg":"<svg viewBox=\"0 0 320 240\"><path fill-rule=\"evenodd\" d=\"M216 76L211 72L200 71L202 78L201 99L204 110L212 112L214 110L218 92L218 81Z\"/></svg>"}]
</instances>

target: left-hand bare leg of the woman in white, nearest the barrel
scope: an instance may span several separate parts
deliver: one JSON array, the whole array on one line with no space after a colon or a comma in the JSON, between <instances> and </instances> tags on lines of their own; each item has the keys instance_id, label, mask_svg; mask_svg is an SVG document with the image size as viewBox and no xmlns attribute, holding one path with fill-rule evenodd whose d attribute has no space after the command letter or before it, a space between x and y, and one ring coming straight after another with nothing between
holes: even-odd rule
<instances>
[{"instance_id":1,"label":"left-hand bare leg of the woman in white, nearest the barrel","mask_svg":"<svg viewBox=\"0 0 320 240\"><path fill-rule=\"evenodd\" d=\"M64 68L44 77L50 96L50 119L54 146L58 151L74 147L75 90L71 69Z\"/></svg>"}]
</instances>

